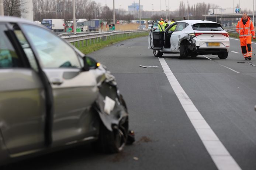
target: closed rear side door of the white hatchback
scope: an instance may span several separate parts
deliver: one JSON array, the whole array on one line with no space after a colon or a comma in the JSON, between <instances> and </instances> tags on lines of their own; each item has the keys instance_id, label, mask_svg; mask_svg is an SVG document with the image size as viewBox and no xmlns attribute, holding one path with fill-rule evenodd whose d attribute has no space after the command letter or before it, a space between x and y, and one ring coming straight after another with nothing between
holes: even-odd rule
<instances>
[{"instance_id":1,"label":"closed rear side door of the white hatchback","mask_svg":"<svg viewBox=\"0 0 256 170\"><path fill-rule=\"evenodd\" d=\"M185 22L179 22L174 30L174 32L172 33L171 36L171 51L172 52L179 52L179 41L181 38L183 38L184 33L183 33L183 29L186 28L188 24Z\"/></svg>"}]
</instances>

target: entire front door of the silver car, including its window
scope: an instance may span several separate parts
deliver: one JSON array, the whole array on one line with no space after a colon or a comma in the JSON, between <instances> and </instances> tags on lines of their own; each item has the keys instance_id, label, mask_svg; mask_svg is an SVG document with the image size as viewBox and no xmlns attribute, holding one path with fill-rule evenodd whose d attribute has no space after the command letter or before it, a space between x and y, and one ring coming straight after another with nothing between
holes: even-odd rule
<instances>
[{"instance_id":1,"label":"entire front door of the silver car, including its window","mask_svg":"<svg viewBox=\"0 0 256 170\"><path fill-rule=\"evenodd\" d=\"M91 105L98 96L93 73L82 71L75 50L51 31L22 24L53 93L53 145L87 137L93 128Z\"/></svg>"}]
</instances>

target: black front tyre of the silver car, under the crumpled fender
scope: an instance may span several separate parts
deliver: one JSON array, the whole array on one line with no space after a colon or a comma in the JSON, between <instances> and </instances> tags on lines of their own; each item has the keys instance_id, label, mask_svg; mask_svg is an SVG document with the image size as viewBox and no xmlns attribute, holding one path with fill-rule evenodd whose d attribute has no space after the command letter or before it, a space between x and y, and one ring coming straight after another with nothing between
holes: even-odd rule
<instances>
[{"instance_id":1,"label":"black front tyre of the silver car, under the crumpled fender","mask_svg":"<svg viewBox=\"0 0 256 170\"><path fill-rule=\"evenodd\" d=\"M101 123L98 147L104 153L118 153L124 149L128 138L128 116L120 120L118 125L113 125L112 129L109 131Z\"/></svg>"}]
</instances>

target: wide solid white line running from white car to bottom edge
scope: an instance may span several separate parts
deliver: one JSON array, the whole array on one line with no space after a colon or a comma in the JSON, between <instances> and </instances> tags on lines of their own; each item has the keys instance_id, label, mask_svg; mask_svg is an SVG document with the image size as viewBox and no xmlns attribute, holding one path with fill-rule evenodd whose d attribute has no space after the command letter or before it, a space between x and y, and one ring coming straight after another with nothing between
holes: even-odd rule
<instances>
[{"instance_id":1,"label":"wide solid white line running from white car to bottom edge","mask_svg":"<svg viewBox=\"0 0 256 170\"><path fill-rule=\"evenodd\" d=\"M162 65L165 75L167 76L167 79L169 80L170 85L173 88L174 93L179 99L190 122L196 129L197 134L199 135L217 168L219 170L241 170L239 165L232 158L230 153L221 143L217 135L214 133L201 113L197 110L196 106L185 93L183 88L180 86L180 83L173 75L173 72L167 65L165 59L158 59Z\"/></svg>"}]
</instances>

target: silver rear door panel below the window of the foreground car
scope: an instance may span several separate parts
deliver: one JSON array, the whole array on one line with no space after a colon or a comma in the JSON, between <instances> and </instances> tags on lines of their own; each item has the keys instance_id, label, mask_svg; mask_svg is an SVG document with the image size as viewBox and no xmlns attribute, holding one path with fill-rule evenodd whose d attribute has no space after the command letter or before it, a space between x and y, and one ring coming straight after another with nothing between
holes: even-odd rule
<instances>
[{"instance_id":1,"label":"silver rear door panel below the window of the foreground car","mask_svg":"<svg viewBox=\"0 0 256 170\"><path fill-rule=\"evenodd\" d=\"M44 88L32 69L0 69L0 129L10 154L44 147Z\"/></svg>"}]
</instances>

